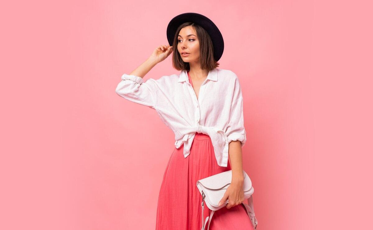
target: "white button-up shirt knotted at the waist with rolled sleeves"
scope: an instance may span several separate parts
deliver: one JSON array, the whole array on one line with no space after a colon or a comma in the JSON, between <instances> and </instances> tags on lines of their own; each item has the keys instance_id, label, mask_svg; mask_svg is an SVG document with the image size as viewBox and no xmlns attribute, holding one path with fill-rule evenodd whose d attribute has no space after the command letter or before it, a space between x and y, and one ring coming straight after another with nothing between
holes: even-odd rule
<instances>
[{"instance_id":1,"label":"white button-up shirt knotted at the waist with rolled sleeves","mask_svg":"<svg viewBox=\"0 0 373 230\"><path fill-rule=\"evenodd\" d=\"M243 99L238 77L231 70L209 71L201 84L198 100L188 73L144 80L123 74L115 92L129 100L155 109L175 133L175 147L184 144L184 157L196 132L210 136L217 164L228 164L229 142L246 142Z\"/></svg>"}]
</instances>

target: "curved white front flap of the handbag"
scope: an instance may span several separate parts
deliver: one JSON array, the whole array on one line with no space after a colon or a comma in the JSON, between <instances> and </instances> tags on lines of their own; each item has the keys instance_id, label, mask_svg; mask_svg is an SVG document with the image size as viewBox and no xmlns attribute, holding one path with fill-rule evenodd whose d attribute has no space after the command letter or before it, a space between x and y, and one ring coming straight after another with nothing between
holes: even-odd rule
<instances>
[{"instance_id":1,"label":"curved white front flap of the handbag","mask_svg":"<svg viewBox=\"0 0 373 230\"><path fill-rule=\"evenodd\" d=\"M243 171L244 173L244 192L249 191L252 187L251 180L247 173ZM230 184L232 181L232 170L228 170L222 173L218 173L212 176L209 176L207 178L200 179L197 181L198 183L201 183L202 186L208 189L222 189L226 185Z\"/></svg>"}]
</instances>

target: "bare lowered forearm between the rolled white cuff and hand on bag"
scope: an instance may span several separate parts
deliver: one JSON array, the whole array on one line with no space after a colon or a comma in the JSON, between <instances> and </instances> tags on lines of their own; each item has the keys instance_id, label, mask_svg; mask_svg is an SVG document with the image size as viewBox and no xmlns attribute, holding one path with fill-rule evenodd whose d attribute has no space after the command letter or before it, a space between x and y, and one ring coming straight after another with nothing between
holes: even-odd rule
<instances>
[{"instance_id":1,"label":"bare lowered forearm between the rolled white cuff and hand on bag","mask_svg":"<svg viewBox=\"0 0 373 230\"><path fill-rule=\"evenodd\" d=\"M229 142L229 163L232 168L232 183L243 183L241 141Z\"/></svg>"}]
</instances>

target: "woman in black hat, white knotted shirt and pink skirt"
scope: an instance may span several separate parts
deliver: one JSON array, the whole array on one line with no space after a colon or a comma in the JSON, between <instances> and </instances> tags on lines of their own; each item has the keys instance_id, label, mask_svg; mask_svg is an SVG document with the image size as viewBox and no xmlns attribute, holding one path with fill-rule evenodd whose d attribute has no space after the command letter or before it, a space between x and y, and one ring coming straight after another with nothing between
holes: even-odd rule
<instances>
[{"instance_id":1,"label":"woman in black hat, white knotted shirt and pink skirt","mask_svg":"<svg viewBox=\"0 0 373 230\"><path fill-rule=\"evenodd\" d=\"M236 74L217 68L224 48L221 33L207 17L184 13L170 21L167 39L169 45L160 45L138 68L123 74L116 88L123 98L155 109L175 133L175 150L159 192L156 230L201 229L202 197L196 182L231 169L232 182L221 199L228 199L228 205L216 211L210 229L252 229L241 205L243 99ZM179 75L142 79L171 53ZM205 220L210 210L203 214Z\"/></svg>"}]
</instances>

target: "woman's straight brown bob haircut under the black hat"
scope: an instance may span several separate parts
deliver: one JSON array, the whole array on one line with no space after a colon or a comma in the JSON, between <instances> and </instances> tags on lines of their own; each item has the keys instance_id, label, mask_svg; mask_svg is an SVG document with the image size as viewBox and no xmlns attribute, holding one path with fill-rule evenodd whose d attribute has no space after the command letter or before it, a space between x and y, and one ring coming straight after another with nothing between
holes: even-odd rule
<instances>
[{"instance_id":1,"label":"woman's straight brown bob haircut under the black hat","mask_svg":"<svg viewBox=\"0 0 373 230\"><path fill-rule=\"evenodd\" d=\"M203 70L211 71L219 66L219 63L214 59L214 48L210 38L210 35L205 29L194 22L185 22L181 24L175 33L175 38L173 39L172 47L178 47L179 43L179 32L182 28L186 26L192 26L197 32L197 38L200 44L200 66ZM172 55L172 66L176 70L190 70L188 62L184 62L179 54L178 49L173 49Z\"/></svg>"}]
</instances>

